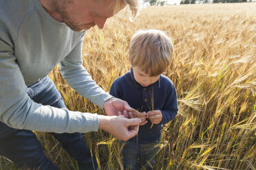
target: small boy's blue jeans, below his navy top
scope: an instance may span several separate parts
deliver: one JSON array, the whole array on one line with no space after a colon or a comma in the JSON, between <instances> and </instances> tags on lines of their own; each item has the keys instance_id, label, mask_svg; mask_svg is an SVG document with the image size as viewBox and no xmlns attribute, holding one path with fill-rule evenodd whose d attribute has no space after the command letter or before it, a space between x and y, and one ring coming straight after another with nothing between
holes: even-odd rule
<instances>
[{"instance_id":1,"label":"small boy's blue jeans, below his navy top","mask_svg":"<svg viewBox=\"0 0 256 170\"><path fill-rule=\"evenodd\" d=\"M122 164L125 170L152 169L159 141L153 143L125 142L122 149Z\"/></svg>"}]
</instances>

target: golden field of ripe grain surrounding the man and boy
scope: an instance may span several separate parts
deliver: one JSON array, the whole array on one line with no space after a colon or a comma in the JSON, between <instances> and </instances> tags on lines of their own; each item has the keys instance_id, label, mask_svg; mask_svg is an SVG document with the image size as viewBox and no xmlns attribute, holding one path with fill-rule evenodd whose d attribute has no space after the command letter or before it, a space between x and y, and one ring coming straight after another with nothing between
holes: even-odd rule
<instances>
[{"instance_id":1,"label":"golden field of ripe grain surrounding the man and boy","mask_svg":"<svg viewBox=\"0 0 256 170\"><path fill-rule=\"evenodd\" d=\"M256 3L148 7L130 22L125 11L85 34L83 64L109 90L129 70L128 47L138 29L161 29L173 40L164 73L178 93L177 117L164 125L153 169L256 169ZM50 77L70 110L104 114L74 92L58 66ZM47 133L36 133L60 169L78 169ZM119 141L85 134L100 169L122 169ZM0 158L0 169L15 169Z\"/></svg>"}]
</instances>

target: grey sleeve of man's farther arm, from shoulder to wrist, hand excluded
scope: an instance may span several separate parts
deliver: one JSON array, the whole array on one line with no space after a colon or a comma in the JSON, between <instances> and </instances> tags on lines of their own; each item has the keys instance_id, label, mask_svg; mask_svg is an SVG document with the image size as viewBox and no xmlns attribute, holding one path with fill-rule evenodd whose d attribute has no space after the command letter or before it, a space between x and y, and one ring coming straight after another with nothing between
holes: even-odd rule
<instances>
[{"instance_id":1,"label":"grey sleeve of man's farther arm, from shoulder to wrist, hand excluded","mask_svg":"<svg viewBox=\"0 0 256 170\"><path fill-rule=\"evenodd\" d=\"M83 37L70 54L61 61L61 74L67 83L74 88L79 95L86 97L100 108L103 108L105 101L110 99L112 96L92 80L91 75L89 75L83 66L81 58L82 44Z\"/></svg>"}]
</instances>

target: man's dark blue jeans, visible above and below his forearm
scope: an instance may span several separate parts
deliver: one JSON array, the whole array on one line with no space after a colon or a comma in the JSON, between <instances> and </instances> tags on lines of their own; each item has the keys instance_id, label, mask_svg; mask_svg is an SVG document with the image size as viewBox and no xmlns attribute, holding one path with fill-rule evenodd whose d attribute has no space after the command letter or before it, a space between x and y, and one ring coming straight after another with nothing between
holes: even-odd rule
<instances>
[{"instance_id":1,"label":"man's dark blue jeans, visible above and below his forearm","mask_svg":"<svg viewBox=\"0 0 256 170\"><path fill-rule=\"evenodd\" d=\"M61 94L49 77L28 87L28 95L36 103L65 108ZM79 169L97 169L81 133L52 133L62 147L78 162ZM0 121L0 155L12 160L21 169L58 169L43 153L36 135L30 130L17 130Z\"/></svg>"}]
</instances>

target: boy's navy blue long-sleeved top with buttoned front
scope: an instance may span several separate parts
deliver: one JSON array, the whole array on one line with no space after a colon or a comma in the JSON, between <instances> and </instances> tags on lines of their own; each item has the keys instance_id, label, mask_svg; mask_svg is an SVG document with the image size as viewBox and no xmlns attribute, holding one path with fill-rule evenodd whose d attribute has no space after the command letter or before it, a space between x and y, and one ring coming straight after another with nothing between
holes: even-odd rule
<instances>
[{"instance_id":1,"label":"boy's navy blue long-sleeved top with buttoned front","mask_svg":"<svg viewBox=\"0 0 256 170\"><path fill-rule=\"evenodd\" d=\"M140 126L138 136L129 139L132 142L151 143L160 140L162 125L174 119L178 112L175 86L164 75L160 75L159 80L154 84L143 87L136 82L131 69L114 80L109 93L114 97L127 101L131 108L139 112L151 110L152 103L154 110L162 112L162 121L158 125L154 124L151 127L151 121L147 120L147 124ZM152 96L153 102L151 100Z\"/></svg>"}]
</instances>

